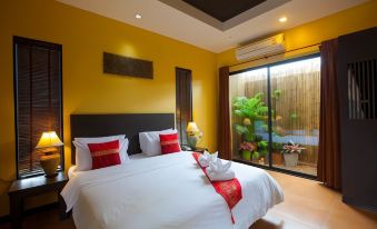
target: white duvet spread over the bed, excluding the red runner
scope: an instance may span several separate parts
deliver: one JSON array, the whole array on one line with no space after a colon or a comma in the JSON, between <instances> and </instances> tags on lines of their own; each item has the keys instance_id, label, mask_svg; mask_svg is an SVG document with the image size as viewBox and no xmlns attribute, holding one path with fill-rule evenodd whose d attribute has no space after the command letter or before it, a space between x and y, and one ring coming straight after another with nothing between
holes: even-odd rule
<instances>
[{"instance_id":1,"label":"white duvet spread over the bed, excluding the red runner","mask_svg":"<svg viewBox=\"0 0 377 229\"><path fill-rule=\"evenodd\" d=\"M78 229L249 228L284 200L266 171L232 162L242 199L229 208L191 152L79 172L61 195Z\"/></svg>"}]
</instances>

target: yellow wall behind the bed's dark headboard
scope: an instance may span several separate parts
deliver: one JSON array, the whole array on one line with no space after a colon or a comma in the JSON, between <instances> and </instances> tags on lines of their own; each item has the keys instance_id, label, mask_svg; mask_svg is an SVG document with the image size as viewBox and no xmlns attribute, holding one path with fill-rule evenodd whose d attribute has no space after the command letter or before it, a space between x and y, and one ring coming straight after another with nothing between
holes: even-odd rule
<instances>
[{"instance_id":1,"label":"yellow wall behind the bed's dark headboard","mask_svg":"<svg viewBox=\"0 0 377 229\"><path fill-rule=\"evenodd\" d=\"M194 114L202 146L216 146L216 54L53 0L0 1L0 178L14 179L12 36L60 43L66 168L70 113L175 112L175 67L192 70ZM155 79L102 73L102 52L153 61ZM2 191L0 191L1 193ZM0 197L0 216L7 213Z\"/></svg>"}]
</instances>

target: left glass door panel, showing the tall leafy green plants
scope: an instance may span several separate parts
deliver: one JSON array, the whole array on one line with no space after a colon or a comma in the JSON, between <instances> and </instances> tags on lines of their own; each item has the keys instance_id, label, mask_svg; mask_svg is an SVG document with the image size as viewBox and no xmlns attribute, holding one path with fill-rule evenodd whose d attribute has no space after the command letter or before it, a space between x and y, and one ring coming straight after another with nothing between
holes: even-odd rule
<instances>
[{"instance_id":1,"label":"left glass door panel, showing the tall leafy green plants","mask_svg":"<svg viewBox=\"0 0 377 229\"><path fill-rule=\"evenodd\" d=\"M234 159L268 166L268 69L229 78Z\"/></svg>"}]
</instances>

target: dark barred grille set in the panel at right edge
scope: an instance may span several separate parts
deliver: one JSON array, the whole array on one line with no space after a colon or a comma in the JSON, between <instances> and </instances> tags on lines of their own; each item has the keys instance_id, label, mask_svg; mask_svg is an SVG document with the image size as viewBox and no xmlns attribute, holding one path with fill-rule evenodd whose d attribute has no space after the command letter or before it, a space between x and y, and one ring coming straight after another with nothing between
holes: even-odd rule
<instances>
[{"instance_id":1,"label":"dark barred grille set in the panel at right edge","mask_svg":"<svg viewBox=\"0 0 377 229\"><path fill-rule=\"evenodd\" d=\"M376 59L348 63L349 119L377 119Z\"/></svg>"}]
</instances>

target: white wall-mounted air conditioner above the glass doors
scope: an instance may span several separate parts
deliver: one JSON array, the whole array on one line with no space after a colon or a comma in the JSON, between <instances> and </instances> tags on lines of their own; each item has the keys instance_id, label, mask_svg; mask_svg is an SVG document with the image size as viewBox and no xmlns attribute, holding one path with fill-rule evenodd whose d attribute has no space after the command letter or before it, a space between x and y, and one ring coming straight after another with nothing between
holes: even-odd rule
<instances>
[{"instance_id":1,"label":"white wall-mounted air conditioner above the glass doors","mask_svg":"<svg viewBox=\"0 0 377 229\"><path fill-rule=\"evenodd\" d=\"M236 49L236 58L241 61L281 51L285 51L282 33Z\"/></svg>"}]
</instances>

